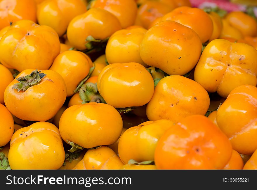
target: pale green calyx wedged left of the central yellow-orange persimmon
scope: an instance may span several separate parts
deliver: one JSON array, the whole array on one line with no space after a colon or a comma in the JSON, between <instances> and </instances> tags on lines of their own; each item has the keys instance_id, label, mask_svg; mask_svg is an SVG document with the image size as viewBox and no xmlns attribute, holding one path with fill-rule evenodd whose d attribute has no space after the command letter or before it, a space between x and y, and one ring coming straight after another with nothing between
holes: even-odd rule
<instances>
[{"instance_id":1,"label":"pale green calyx wedged left of the central yellow-orange persimmon","mask_svg":"<svg viewBox=\"0 0 257 190\"><path fill-rule=\"evenodd\" d=\"M92 82L88 82L81 86L79 89L79 97L81 100L83 100L82 104L89 102L106 103L98 92L97 84Z\"/></svg>"}]
</instances>

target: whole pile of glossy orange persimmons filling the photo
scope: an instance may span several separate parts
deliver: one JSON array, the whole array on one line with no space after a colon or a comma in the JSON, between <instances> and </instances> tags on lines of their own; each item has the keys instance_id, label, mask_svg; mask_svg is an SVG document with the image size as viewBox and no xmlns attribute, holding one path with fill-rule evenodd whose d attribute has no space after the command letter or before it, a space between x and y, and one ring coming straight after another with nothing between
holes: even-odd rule
<instances>
[{"instance_id":1,"label":"whole pile of glossy orange persimmons filling the photo","mask_svg":"<svg viewBox=\"0 0 257 190\"><path fill-rule=\"evenodd\" d=\"M256 49L189 0L0 0L0 169L257 169Z\"/></svg>"}]
</instances>

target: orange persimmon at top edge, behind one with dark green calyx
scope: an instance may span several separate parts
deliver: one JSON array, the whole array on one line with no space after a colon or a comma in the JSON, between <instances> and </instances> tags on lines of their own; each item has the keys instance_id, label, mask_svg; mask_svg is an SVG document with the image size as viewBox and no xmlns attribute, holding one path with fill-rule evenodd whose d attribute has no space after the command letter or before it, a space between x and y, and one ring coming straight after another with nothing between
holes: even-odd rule
<instances>
[{"instance_id":1,"label":"orange persimmon at top edge, behind one with dark green calyx","mask_svg":"<svg viewBox=\"0 0 257 190\"><path fill-rule=\"evenodd\" d=\"M123 29L135 23L137 5L134 0L96 0L91 3L91 8L102 8L114 14Z\"/></svg>"}]
</instances>

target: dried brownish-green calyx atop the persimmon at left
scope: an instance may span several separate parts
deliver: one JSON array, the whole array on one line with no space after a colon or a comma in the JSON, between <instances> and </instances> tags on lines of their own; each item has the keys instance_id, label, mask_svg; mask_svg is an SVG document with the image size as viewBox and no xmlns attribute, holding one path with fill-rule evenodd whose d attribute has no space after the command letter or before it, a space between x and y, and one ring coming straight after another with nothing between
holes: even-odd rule
<instances>
[{"instance_id":1,"label":"dried brownish-green calyx atop the persimmon at left","mask_svg":"<svg viewBox=\"0 0 257 190\"><path fill-rule=\"evenodd\" d=\"M46 76L46 74L40 72L41 71L37 71L36 69L25 77L17 78L16 80L19 82L13 85L13 89L17 89L18 92L20 90L26 91L29 87L39 84L41 80Z\"/></svg>"}]
</instances>

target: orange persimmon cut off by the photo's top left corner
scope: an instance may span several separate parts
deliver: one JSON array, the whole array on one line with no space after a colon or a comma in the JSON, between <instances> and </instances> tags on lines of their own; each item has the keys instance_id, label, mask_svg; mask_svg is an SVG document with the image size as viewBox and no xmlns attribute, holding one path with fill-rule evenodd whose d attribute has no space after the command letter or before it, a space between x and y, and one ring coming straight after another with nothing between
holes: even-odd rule
<instances>
[{"instance_id":1,"label":"orange persimmon cut off by the photo's top left corner","mask_svg":"<svg viewBox=\"0 0 257 190\"><path fill-rule=\"evenodd\" d=\"M37 22L36 3L31 0L1 0L0 1L0 30L9 26L10 22L28 19Z\"/></svg>"}]
</instances>

